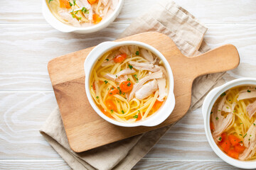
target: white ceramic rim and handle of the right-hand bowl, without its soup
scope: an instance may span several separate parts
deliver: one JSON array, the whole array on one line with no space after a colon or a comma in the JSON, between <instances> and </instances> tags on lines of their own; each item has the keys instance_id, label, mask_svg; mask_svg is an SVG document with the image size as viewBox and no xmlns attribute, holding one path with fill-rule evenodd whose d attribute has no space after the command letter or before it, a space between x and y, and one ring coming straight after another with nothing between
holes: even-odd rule
<instances>
[{"instance_id":1,"label":"white ceramic rim and handle of the right-hand bowl, without its soup","mask_svg":"<svg viewBox=\"0 0 256 170\"><path fill-rule=\"evenodd\" d=\"M229 81L226 84L223 84L222 86L219 86L209 92L209 94L206 96L205 100L203 101L203 122L204 127L206 130L206 137L210 144L210 147L213 149L215 154L218 155L223 161L227 162L228 164L231 164L233 166L237 166L238 168L242 169L256 169L256 160L252 161L240 161L238 159L233 159L232 157L229 157L227 154L225 154L219 147L216 145L216 143L213 140L213 136L210 132L210 111L213 108L213 104L217 100L217 98L220 96L220 94L223 94L223 92L227 91L230 88L233 88L234 86L240 86L240 85L254 85L256 86L256 79L255 78L242 78L242 79L235 79L233 81Z\"/></svg>"}]
</instances>

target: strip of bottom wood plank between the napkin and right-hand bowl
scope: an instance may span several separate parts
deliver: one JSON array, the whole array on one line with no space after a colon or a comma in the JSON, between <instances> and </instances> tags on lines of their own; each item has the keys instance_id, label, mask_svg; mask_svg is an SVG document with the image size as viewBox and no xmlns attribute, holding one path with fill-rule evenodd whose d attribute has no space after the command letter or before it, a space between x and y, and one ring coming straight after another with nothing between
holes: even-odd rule
<instances>
[{"instance_id":1,"label":"strip of bottom wood plank between the napkin and right-hand bowl","mask_svg":"<svg viewBox=\"0 0 256 170\"><path fill-rule=\"evenodd\" d=\"M147 160L142 159L142 161L138 162L136 166L134 166L133 170L136 169L147 169L147 170L154 170L154 169L238 169L234 166L231 166L230 164L227 164L221 160L218 161L206 161L206 160L200 160L200 161L193 161L193 160L186 160L186 161L159 161L159 160Z\"/></svg>"}]
</instances>

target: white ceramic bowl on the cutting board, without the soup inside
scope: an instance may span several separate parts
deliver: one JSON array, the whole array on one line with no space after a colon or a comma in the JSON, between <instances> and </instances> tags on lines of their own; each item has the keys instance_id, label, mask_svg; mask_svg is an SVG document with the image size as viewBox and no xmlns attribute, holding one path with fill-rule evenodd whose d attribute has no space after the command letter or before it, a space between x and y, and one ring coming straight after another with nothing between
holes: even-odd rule
<instances>
[{"instance_id":1,"label":"white ceramic bowl on the cutting board, without the soup inside","mask_svg":"<svg viewBox=\"0 0 256 170\"><path fill-rule=\"evenodd\" d=\"M116 47L121 47L124 45L137 45L139 47L143 47L144 49L153 52L157 57L159 57L164 62L164 66L166 68L166 72L168 73L168 77L169 77L169 79L166 80L166 81L169 81L169 94L166 98L164 106L161 106L161 108L159 108L159 111L156 111L156 113L151 115L149 118L146 118L146 120L138 121L136 123L121 123L121 122L118 122L117 120L113 120L112 118L107 117L96 106L95 101L93 101L92 96L90 94L90 83L89 83L90 74L97 60L100 57L102 57L102 55L104 55L105 52L108 52ZM164 120L166 120L166 118L168 118L171 112L174 110L174 106L175 106L174 77L171 72L171 67L167 62L166 58L164 57L164 55L162 55L161 52L156 50L151 45L147 45L143 42L138 42L138 41L102 42L100 45L97 45L89 53L89 55L85 60L84 68L85 68L85 91L92 108L97 112L98 115L100 115L100 117L102 117L103 119L107 120L108 122L114 125L119 125L124 127L135 127L140 125L155 126L164 122Z\"/></svg>"}]
</instances>

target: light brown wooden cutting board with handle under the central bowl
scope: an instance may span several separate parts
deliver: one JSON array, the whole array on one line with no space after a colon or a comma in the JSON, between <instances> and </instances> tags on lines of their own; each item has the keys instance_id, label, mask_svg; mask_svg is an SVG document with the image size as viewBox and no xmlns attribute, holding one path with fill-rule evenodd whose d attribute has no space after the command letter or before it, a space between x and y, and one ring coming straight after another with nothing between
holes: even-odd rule
<instances>
[{"instance_id":1,"label":"light brown wooden cutting board with handle under the central bowl","mask_svg":"<svg viewBox=\"0 0 256 170\"><path fill-rule=\"evenodd\" d=\"M164 123L155 127L124 128L112 125L97 115L85 94L83 64L93 47L56 57L48 63L48 72L68 142L75 152L83 152L175 123L188 111L192 83L196 77L235 69L240 62L238 50L233 45L223 45L197 57L186 57L168 36L161 33L140 33L116 41L124 40L145 42L159 50L169 61L174 74L174 111Z\"/></svg>"}]
</instances>

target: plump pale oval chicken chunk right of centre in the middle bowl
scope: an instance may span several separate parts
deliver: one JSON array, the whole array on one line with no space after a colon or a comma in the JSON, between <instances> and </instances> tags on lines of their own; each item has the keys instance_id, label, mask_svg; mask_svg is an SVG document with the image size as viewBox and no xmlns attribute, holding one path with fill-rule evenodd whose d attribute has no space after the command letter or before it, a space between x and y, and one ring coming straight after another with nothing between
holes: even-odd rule
<instances>
[{"instance_id":1,"label":"plump pale oval chicken chunk right of centre in the middle bowl","mask_svg":"<svg viewBox=\"0 0 256 170\"><path fill-rule=\"evenodd\" d=\"M156 79L154 79L152 81L147 82L138 91L136 91L135 98L142 100L153 94L157 89L157 81Z\"/></svg>"}]
</instances>

